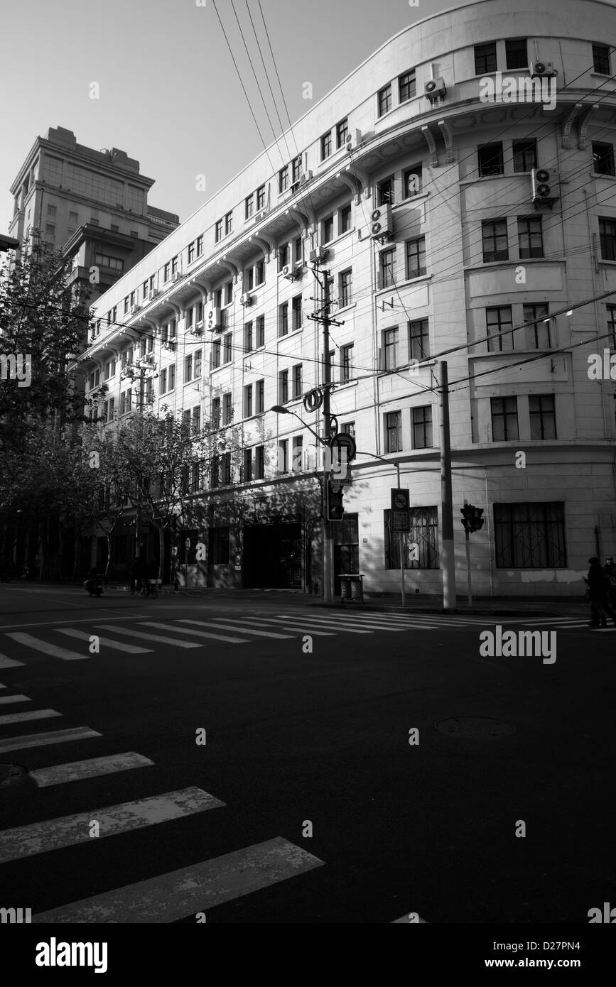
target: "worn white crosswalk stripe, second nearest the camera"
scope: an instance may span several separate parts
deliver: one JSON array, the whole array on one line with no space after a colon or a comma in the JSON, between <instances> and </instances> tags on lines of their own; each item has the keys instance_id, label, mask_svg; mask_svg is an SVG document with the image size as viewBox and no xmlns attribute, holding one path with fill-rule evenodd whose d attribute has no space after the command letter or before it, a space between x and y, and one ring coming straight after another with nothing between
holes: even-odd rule
<instances>
[{"instance_id":1,"label":"worn white crosswalk stripe, second nearest the camera","mask_svg":"<svg viewBox=\"0 0 616 987\"><path fill-rule=\"evenodd\" d=\"M3 829L0 830L0 864L77 843L89 843L93 822L99 824L100 837L115 836L222 805L224 802L207 792L189 788L160 796L137 798L88 812L77 812L57 819L46 819L27 826Z\"/></svg>"}]
</instances>

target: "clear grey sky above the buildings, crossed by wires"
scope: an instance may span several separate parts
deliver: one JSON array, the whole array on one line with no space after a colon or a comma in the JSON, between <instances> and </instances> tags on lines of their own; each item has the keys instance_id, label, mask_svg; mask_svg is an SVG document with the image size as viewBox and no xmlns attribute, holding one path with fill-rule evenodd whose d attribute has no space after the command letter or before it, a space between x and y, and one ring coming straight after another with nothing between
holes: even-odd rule
<instances>
[{"instance_id":1,"label":"clear grey sky above the buildings, crossed by wires","mask_svg":"<svg viewBox=\"0 0 616 987\"><path fill-rule=\"evenodd\" d=\"M247 7L248 2L248 7ZM203 6L197 6L202 3ZM282 122L259 0L215 0L267 144L259 92L280 132L251 20ZM451 0L261 0L291 121L305 114L387 38ZM252 74L240 25L255 69ZM186 219L263 144L213 0L5 0L0 11L0 230L13 214L11 183L36 137L73 130L97 149L117 147L155 180L151 205ZM313 102L302 99L305 82ZM90 98L98 83L100 98ZM205 175L206 190L195 189Z\"/></svg>"}]
</instances>

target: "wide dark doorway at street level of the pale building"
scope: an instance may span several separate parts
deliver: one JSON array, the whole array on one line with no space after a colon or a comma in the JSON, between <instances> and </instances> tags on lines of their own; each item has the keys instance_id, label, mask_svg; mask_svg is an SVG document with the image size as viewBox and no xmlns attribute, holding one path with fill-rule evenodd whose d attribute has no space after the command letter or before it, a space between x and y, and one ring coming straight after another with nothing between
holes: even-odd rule
<instances>
[{"instance_id":1,"label":"wide dark doorway at street level of the pale building","mask_svg":"<svg viewBox=\"0 0 616 987\"><path fill-rule=\"evenodd\" d=\"M301 589L301 524L260 524L244 528L244 585Z\"/></svg>"}]
</instances>

